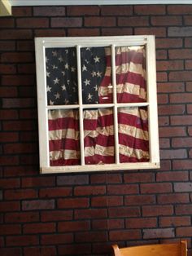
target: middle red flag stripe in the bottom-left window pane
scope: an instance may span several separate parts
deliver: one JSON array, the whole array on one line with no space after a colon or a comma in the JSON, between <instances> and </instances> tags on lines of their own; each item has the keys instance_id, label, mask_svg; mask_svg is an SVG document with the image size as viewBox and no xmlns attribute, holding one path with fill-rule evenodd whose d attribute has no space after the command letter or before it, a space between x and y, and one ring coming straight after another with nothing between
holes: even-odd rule
<instances>
[{"instance_id":1,"label":"middle red flag stripe in the bottom-left window pane","mask_svg":"<svg viewBox=\"0 0 192 256\"><path fill-rule=\"evenodd\" d=\"M55 139L50 140L50 151L59 151L62 149L77 150L80 149L80 141L75 139Z\"/></svg>"}]
</instances>

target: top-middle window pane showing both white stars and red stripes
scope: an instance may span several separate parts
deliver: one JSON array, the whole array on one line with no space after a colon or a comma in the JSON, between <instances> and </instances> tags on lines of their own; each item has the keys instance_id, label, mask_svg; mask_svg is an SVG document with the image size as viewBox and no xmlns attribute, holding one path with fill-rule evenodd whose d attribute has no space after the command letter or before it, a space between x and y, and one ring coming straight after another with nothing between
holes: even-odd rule
<instances>
[{"instance_id":1,"label":"top-middle window pane showing both white stars and red stripes","mask_svg":"<svg viewBox=\"0 0 192 256\"><path fill-rule=\"evenodd\" d=\"M83 104L112 103L111 48L81 48Z\"/></svg>"}]
</instances>

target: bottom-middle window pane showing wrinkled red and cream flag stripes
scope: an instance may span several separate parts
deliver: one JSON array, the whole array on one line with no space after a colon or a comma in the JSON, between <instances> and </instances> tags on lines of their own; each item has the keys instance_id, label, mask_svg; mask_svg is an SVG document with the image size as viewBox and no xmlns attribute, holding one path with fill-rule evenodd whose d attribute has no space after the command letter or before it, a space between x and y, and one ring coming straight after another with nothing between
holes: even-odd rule
<instances>
[{"instance_id":1,"label":"bottom-middle window pane showing wrinkled red and cream flag stripes","mask_svg":"<svg viewBox=\"0 0 192 256\"><path fill-rule=\"evenodd\" d=\"M84 110L85 164L115 162L112 108Z\"/></svg>"}]
</instances>

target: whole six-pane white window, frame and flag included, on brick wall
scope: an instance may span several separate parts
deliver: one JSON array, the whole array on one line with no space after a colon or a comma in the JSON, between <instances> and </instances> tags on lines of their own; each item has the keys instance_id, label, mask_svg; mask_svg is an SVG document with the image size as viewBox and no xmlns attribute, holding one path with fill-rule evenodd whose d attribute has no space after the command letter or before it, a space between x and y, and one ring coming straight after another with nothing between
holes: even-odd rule
<instances>
[{"instance_id":1,"label":"whole six-pane white window, frame and flag included, on brick wall","mask_svg":"<svg viewBox=\"0 0 192 256\"><path fill-rule=\"evenodd\" d=\"M71 40L36 39L41 172L159 167L154 37Z\"/></svg>"}]
</instances>

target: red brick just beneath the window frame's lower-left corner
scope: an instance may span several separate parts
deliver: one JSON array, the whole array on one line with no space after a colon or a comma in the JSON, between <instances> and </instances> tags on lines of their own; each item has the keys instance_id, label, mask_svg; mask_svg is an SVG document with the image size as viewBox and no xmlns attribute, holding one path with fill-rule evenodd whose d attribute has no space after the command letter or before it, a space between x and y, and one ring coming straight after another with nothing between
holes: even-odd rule
<instances>
[{"instance_id":1,"label":"red brick just beneath the window frame's lower-left corner","mask_svg":"<svg viewBox=\"0 0 192 256\"><path fill-rule=\"evenodd\" d=\"M34 177L22 179L22 188L50 187L54 185L54 177Z\"/></svg>"}]
</instances>

